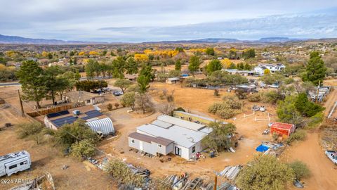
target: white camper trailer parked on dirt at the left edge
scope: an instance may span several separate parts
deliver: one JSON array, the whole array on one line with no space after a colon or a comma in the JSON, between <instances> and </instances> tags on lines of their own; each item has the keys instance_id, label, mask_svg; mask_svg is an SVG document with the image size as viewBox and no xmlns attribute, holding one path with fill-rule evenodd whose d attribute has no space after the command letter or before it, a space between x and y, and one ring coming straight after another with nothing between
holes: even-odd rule
<instances>
[{"instance_id":1,"label":"white camper trailer parked on dirt at the left edge","mask_svg":"<svg viewBox=\"0 0 337 190\"><path fill-rule=\"evenodd\" d=\"M5 156L0 156L0 177L4 175L11 176L17 172L27 170L31 164L27 151L8 153Z\"/></svg>"}]
</instances>

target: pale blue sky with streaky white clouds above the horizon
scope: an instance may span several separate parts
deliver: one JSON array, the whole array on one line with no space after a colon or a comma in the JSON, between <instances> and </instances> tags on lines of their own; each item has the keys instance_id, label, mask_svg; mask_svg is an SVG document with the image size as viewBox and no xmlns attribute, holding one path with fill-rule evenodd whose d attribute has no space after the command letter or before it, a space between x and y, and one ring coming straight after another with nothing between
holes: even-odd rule
<instances>
[{"instance_id":1,"label":"pale blue sky with streaky white clouds above the horizon","mask_svg":"<svg viewBox=\"0 0 337 190\"><path fill-rule=\"evenodd\" d=\"M0 34L87 42L337 37L337 0L0 0Z\"/></svg>"}]
</instances>

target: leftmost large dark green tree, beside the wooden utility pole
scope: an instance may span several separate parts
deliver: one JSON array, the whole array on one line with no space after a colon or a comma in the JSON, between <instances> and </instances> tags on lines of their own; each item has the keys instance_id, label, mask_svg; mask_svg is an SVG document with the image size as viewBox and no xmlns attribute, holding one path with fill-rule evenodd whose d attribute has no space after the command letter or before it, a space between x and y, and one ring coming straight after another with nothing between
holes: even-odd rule
<instances>
[{"instance_id":1,"label":"leftmost large dark green tree, beside the wooden utility pole","mask_svg":"<svg viewBox=\"0 0 337 190\"><path fill-rule=\"evenodd\" d=\"M24 93L22 98L35 101L37 108L41 108L39 102L46 97L47 93L47 88L44 85L44 70L34 61L24 61L16 75L22 84L21 89Z\"/></svg>"}]
</instances>

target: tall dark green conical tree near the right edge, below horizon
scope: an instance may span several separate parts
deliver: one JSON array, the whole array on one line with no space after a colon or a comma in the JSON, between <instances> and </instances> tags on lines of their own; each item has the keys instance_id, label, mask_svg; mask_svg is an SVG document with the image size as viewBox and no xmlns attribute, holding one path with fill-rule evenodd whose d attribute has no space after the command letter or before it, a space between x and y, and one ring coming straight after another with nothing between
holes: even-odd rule
<instances>
[{"instance_id":1,"label":"tall dark green conical tree near the right edge, below horizon","mask_svg":"<svg viewBox=\"0 0 337 190\"><path fill-rule=\"evenodd\" d=\"M326 75L326 67L324 61L319 56L317 51L310 53L310 60L306 68L306 75L303 76L303 81L311 81L313 84L318 85L319 81L323 83Z\"/></svg>"}]
</instances>

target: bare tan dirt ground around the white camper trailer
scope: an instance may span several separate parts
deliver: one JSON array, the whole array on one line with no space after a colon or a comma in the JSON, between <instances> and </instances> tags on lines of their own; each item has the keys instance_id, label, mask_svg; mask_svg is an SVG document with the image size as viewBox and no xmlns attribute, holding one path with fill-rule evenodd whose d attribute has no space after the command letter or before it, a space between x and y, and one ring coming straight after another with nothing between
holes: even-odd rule
<instances>
[{"instance_id":1,"label":"bare tan dirt ground around the white camper trailer","mask_svg":"<svg viewBox=\"0 0 337 190\"><path fill-rule=\"evenodd\" d=\"M11 108L0 109L0 127L4 123L11 122L13 125L25 122L18 118ZM1 179L34 179L45 172L51 173L56 189L115 189L112 179L104 172L95 167L79 162L70 157L62 156L62 151L44 143L37 145L30 139L17 139L15 126L0 131L0 155L15 151L26 150L32 158L32 169L20 172L11 177ZM63 165L68 165L62 170ZM0 184L0 189L9 189L19 184Z\"/></svg>"}]
</instances>

